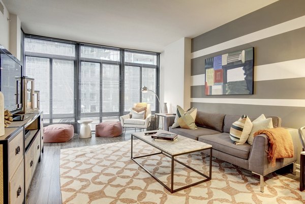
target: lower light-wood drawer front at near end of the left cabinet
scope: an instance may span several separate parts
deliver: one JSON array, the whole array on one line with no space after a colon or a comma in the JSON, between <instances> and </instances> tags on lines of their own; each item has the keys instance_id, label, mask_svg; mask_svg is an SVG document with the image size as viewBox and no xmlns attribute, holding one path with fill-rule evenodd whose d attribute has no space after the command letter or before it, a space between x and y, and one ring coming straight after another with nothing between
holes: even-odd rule
<instances>
[{"instance_id":1,"label":"lower light-wood drawer front at near end of the left cabinet","mask_svg":"<svg viewBox=\"0 0 305 204\"><path fill-rule=\"evenodd\" d=\"M23 174L23 160L18 166L15 174L10 180L10 203L21 204L24 198L24 174Z\"/></svg>"}]
</instances>

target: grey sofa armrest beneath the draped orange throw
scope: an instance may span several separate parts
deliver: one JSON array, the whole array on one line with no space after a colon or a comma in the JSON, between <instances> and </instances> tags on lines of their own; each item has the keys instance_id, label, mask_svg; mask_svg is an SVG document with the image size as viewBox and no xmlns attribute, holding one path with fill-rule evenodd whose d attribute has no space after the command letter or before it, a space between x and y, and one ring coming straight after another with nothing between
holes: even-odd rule
<instances>
[{"instance_id":1,"label":"grey sofa armrest beneath the draped orange throw","mask_svg":"<svg viewBox=\"0 0 305 204\"><path fill-rule=\"evenodd\" d=\"M265 175L269 172L277 170L290 162L296 161L299 155L299 138L297 134L297 129L287 128L293 141L294 156L293 158L287 159L277 159L275 167L272 167L268 161L268 138L265 134L260 134L254 137L252 148L249 156L249 170L258 173L260 175ZM285 161L286 160L286 161Z\"/></svg>"}]
</instances>

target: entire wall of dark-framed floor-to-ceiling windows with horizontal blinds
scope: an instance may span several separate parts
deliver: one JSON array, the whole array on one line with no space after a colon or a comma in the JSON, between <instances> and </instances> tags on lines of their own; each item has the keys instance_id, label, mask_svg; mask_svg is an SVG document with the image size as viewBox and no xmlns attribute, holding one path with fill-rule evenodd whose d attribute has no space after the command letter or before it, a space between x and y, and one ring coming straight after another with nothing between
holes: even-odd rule
<instances>
[{"instance_id":1,"label":"entire wall of dark-framed floor-to-ceiling windows with horizontal blinds","mask_svg":"<svg viewBox=\"0 0 305 204\"><path fill-rule=\"evenodd\" d=\"M35 79L45 124L95 125L147 102L158 110L159 54L25 35L25 75Z\"/></svg>"}]
</instances>

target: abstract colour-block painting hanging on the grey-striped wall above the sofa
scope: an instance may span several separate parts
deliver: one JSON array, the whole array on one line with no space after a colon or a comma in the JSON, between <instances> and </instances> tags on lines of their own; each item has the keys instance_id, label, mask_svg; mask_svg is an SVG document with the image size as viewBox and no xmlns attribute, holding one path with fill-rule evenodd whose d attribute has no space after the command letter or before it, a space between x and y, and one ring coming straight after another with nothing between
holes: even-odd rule
<instances>
[{"instance_id":1,"label":"abstract colour-block painting hanging on the grey-striped wall above the sofa","mask_svg":"<svg viewBox=\"0 0 305 204\"><path fill-rule=\"evenodd\" d=\"M253 94L253 47L210 57L204 62L205 95Z\"/></svg>"}]
</instances>

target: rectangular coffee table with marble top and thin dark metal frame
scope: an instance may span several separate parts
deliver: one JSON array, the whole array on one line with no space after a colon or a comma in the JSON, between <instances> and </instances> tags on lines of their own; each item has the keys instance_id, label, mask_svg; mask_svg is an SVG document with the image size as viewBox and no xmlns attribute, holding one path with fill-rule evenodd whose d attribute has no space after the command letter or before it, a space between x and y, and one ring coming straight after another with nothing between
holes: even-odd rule
<instances>
[{"instance_id":1,"label":"rectangular coffee table with marble top and thin dark metal frame","mask_svg":"<svg viewBox=\"0 0 305 204\"><path fill-rule=\"evenodd\" d=\"M158 132L167 132L165 130L158 130ZM148 155L141 155L134 157L133 156L133 139L137 138L142 140L143 142L151 145L152 147L160 150L160 152L154 153L154 154L148 154ZM204 173L192 168L191 166L188 166L185 163L182 163L181 161L175 159L176 156L189 154L193 152L203 151L203 150L210 150L209 154L209 175L205 175ZM159 180L156 176L154 176L151 172L149 172L143 165L141 165L138 161L136 161L137 158L141 157L147 157L157 154L163 154L171 159L171 183L170 188L166 186L161 180ZM178 135L177 141L155 141L155 139L151 138L151 135L144 135L144 132L134 132L131 134L131 159L136 162L139 166L141 166L147 173L150 174L151 177L156 179L160 184L162 184L168 191L171 193L177 192L179 190L183 190L186 188L189 188L191 186L195 186L197 184L206 182L211 180L211 173L212 173L212 145L206 144L204 142L200 142L194 139L190 139L181 135ZM200 180L198 182L195 182L193 184L189 184L177 189L174 189L174 161L188 167L189 169L195 171L196 173L200 174L205 179Z\"/></svg>"}]
</instances>

